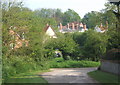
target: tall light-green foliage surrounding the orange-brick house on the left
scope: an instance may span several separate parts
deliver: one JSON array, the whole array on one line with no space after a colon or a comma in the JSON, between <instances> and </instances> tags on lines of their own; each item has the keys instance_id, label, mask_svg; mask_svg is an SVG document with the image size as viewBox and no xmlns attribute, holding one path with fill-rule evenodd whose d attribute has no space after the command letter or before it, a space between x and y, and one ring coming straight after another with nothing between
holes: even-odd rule
<instances>
[{"instance_id":1,"label":"tall light-green foliage surrounding the orange-brick house on the left","mask_svg":"<svg viewBox=\"0 0 120 85\"><path fill-rule=\"evenodd\" d=\"M4 3L3 7L3 27L2 27L2 52L3 52L3 78L7 78L19 73L31 70L48 69L46 58L44 58L43 28L46 22L55 24L54 19L42 19L34 15L34 12L28 8L21 7L21 2L8 6ZM15 5L14 5L15 4ZM43 22L46 20L46 22ZM15 32L20 34L25 32L25 39L29 41L28 47L21 47L12 50L10 42L14 41L9 35L9 28L16 27Z\"/></svg>"}]
</instances>

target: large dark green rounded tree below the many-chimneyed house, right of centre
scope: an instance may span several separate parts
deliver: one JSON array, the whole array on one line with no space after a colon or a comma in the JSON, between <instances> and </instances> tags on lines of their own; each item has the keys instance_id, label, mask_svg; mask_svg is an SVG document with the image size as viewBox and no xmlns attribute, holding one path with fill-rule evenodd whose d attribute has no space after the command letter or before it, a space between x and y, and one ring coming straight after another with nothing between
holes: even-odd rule
<instances>
[{"instance_id":1,"label":"large dark green rounded tree below the many-chimneyed house, right of centre","mask_svg":"<svg viewBox=\"0 0 120 85\"><path fill-rule=\"evenodd\" d=\"M74 34L74 40L80 47L80 59L98 61L106 53L108 36L89 30L84 33Z\"/></svg>"}]
</instances>

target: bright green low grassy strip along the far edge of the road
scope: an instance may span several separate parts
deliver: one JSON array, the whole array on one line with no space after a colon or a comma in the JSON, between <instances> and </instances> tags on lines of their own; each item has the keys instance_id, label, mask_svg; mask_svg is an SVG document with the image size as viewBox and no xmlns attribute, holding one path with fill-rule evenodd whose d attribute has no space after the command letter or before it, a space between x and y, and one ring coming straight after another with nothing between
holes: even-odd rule
<instances>
[{"instance_id":1,"label":"bright green low grassy strip along the far edge of the road","mask_svg":"<svg viewBox=\"0 0 120 85\"><path fill-rule=\"evenodd\" d=\"M64 60L63 58L55 58L50 62L50 68L81 68L81 67L98 67L100 62L94 61L75 61L75 60Z\"/></svg>"}]
</instances>

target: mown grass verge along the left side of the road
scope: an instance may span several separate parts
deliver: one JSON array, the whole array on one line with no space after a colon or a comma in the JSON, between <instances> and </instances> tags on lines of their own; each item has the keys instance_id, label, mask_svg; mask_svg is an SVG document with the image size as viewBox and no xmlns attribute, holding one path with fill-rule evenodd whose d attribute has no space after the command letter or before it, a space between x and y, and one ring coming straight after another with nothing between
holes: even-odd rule
<instances>
[{"instance_id":1,"label":"mown grass verge along the left side of the road","mask_svg":"<svg viewBox=\"0 0 120 85\"><path fill-rule=\"evenodd\" d=\"M27 72L27 73L21 73L19 75L7 78L3 80L2 85L7 85L8 83L14 83L16 84L42 84L42 85L48 85L48 82L40 76L43 72L48 72L49 70L42 70L42 71L33 71L33 72Z\"/></svg>"}]
</instances>

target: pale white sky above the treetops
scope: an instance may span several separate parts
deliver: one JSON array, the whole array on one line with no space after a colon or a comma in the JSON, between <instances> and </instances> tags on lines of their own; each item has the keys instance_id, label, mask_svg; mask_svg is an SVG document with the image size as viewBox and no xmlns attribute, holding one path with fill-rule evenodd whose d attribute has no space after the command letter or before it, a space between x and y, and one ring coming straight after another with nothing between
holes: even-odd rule
<instances>
[{"instance_id":1,"label":"pale white sky above the treetops","mask_svg":"<svg viewBox=\"0 0 120 85\"><path fill-rule=\"evenodd\" d=\"M60 8L63 12L72 9L81 18L91 11L100 11L105 8L107 0L23 0L24 6L32 10L39 8Z\"/></svg>"}]
</instances>

